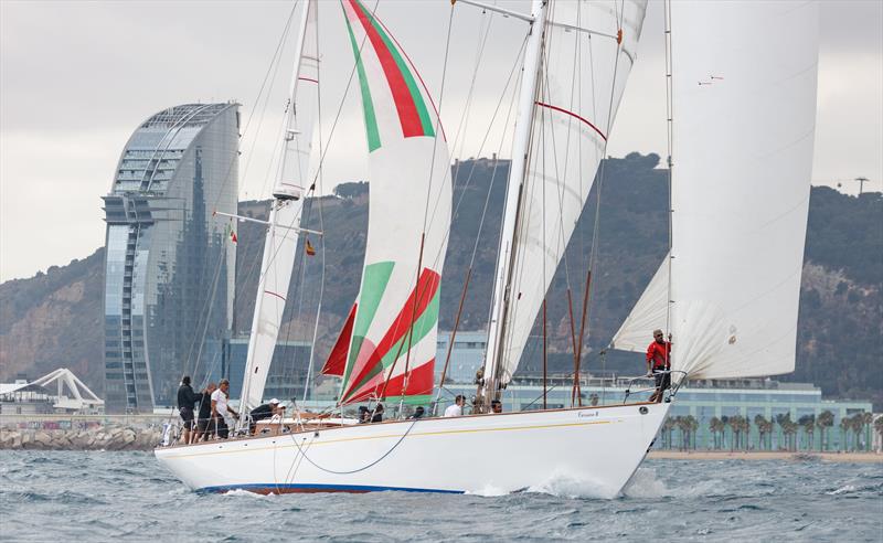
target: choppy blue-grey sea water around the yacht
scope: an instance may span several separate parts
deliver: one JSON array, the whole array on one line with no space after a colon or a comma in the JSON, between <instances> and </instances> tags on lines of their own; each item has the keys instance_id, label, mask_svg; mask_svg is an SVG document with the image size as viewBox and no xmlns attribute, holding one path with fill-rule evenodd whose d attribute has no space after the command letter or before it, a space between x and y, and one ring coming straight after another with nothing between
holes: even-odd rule
<instances>
[{"instance_id":1,"label":"choppy blue-grey sea water around the yacht","mask_svg":"<svg viewBox=\"0 0 883 543\"><path fill-rule=\"evenodd\" d=\"M530 469L525 466L524 469ZM883 541L883 465L649 460L624 496L201 494L149 453L0 451L0 541Z\"/></svg>"}]
</instances>

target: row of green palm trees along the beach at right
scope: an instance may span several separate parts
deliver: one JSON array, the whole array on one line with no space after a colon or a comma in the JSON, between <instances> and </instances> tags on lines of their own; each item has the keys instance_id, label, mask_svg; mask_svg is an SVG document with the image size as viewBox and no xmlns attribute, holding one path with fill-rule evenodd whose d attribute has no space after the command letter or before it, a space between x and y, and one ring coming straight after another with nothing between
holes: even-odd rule
<instances>
[{"instance_id":1,"label":"row of green palm trees along the beach at right","mask_svg":"<svg viewBox=\"0 0 883 543\"><path fill-rule=\"evenodd\" d=\"M819 433L819 450L829 450L830 432L833 426L834 414L827 409L818 416L804 415L797 420L791 419L790 413L778 414L770 419L763 415L756 415L754 420L742 415L712 417L709 420L709 432L712 437L709 446L714 450L730 448L735 451L755 447L759 450L774 450L773 437L778 427L779 437L776 440L778 450L815 450L817 432ZM842 417L838 450L871 450L873 447L873 439L870 438L872 426L874 433L883 436L883 417L874 420L871 413L858 413L851 417ZM662 447L681 450L695 449L699 427L699 420L693 415L668 417L661 429ZM754 441L752 441L752 427L757 435ZM678 430L677 444L674 443L675 429ZM802 430L802 439L800 430Z\"/></svg>"}]
</instances>

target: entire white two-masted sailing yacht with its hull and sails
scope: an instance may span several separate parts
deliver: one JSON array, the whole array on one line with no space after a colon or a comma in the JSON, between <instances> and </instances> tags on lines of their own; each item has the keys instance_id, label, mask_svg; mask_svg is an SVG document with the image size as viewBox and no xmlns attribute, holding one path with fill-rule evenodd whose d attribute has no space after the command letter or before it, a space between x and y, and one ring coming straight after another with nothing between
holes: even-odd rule
<instances>
[{"instance_id":1,"label":"entire white two-masted sailing yacht with its hull and sails","mask_svg":"<svg viewBox=\"0 0 883 543\"><path fill-rule=\"evenodd\" d=\"M301 36L309 35L315 7L304 2ZM358 0L342 7L366 127L371 200L359 297L323 372L341 376L341 404L425 402L433 391L438 285L450 226L447 143L427 89L389 29ZM491 398L517 370L588 198L636 58L646 1L534 0L529 14L482 7L526 21L529 33L485 368L485 397ZM650 330L666 328L674 336L673 368L688 376L792 368L817 10L791 2L671 6L671 253L617 333L616 348L642 350ZM308 65L299 61L298 77ZM301 93L292 88L300 114ZM305 134L299 117L292 123L297 130L289 123L286 141ZM297 233L297 212L288 207L298 202L277 196L272 232ZM258 298L274 288L285 292L290 278L286 263L278 263L280 273L268 273L272 247L292 262L296 245L285 236L272 242L272 232ZM266 352L272 355L281 317L274 300L255 309L247 406L263 395ZM567 477L614 497L670 405L365 425L298 422L290 433L163 447L156 456L188 487L209 491L507 492ZM492 459L476 461L477 451Z\"/></svg>"}]
</instances>

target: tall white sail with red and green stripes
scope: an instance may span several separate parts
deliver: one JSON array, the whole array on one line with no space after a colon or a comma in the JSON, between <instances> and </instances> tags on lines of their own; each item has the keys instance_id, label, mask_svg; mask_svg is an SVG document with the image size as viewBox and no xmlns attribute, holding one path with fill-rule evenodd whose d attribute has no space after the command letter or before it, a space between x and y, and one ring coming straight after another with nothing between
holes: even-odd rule
<instances>
[{"instance_id":1,"label":"tall white sail with red and green stripes","mask_svg":"<svg viewBox=\"0 0 883 543\"><path fill-rule=\"evenodd\" d=\"M340 403L424 400L433 391L450 159L435 107L404 51L363 2L342 4L360 83L371 200Z\"/></svg>"}]
</instances>

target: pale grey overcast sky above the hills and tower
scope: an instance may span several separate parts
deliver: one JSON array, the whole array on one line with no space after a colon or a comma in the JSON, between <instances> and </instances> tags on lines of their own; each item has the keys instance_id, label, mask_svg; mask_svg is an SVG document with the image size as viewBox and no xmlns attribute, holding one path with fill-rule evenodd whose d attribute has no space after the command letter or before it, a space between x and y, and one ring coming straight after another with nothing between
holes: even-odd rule
<instances>
[{"instance_id":1,"label":"pale grey overcast sky above the hills and tower","mask_svg":"<svg viewBox=\"0 0 883 543\"><path fill-rule=\"evenodd\" d=\"M525 11L526 2L507 7ZM242 142L240 193L266 198L290 54L276 72L266 107L255 98L290 11L289 1L0 0L0 280L32 276L104 244L100 196L110 188L126 140L143 119L175 104L242 104L243 119L252 124ZM337 2L323 2L320 13L327 60L351 55ZM490 22L490 15L458 4L439 96L450 3L383 0L377 14L440 99L453 155L490 156L498 148L506 155L500 131L480 152L479 146L517 61L524 23L500 17ZM472 113L457 139L479 32L487 24L492 30ZM781 32L787 39L788 29ZM663 155L662 60L661 4L651 0L609 155ZM343 75L323 79L323 87L339 88L323 95L328 119L343 83ZM355 100L344 102L326 162L326 192L360 171L363 153L351 151L364 148L357 107ZM327 135L331 121L322 126ZM854 193L852 179L859 175L872 180L865 190L881 190L883 2L829 1L822 3L812 182L841 182L841 190Z\"/></svg>"}]
</instances>

